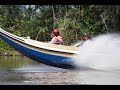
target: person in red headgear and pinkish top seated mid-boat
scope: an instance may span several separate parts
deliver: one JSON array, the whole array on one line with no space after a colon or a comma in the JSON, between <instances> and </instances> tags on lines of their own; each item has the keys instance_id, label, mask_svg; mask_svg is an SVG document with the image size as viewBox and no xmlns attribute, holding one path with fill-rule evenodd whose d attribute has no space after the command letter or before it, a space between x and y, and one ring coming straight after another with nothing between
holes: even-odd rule
<instances>
[{"instance_id":1,"label":"person in red headgear and pinkish top seated mid-boat","mask_svg":"<svg viewBox=\"0 0 120 90\"><path fill-rule=\"evenodd\" d=\"M59 30L56 27L51 33L51 38L52 39L51 39L51 41L49 43L57 44L57 45L63 44L62 37L60 36Z\"/></svg>"}]
</instances>

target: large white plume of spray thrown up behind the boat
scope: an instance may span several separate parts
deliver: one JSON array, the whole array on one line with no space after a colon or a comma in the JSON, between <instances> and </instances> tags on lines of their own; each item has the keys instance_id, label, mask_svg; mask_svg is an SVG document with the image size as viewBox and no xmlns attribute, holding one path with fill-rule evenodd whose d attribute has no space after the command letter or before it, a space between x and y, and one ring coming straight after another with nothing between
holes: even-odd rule
<instances>
[{"instance_id":1,"label":"large white plume of spray thrown up behind the boat","mask_svg":"<svg viewBox=\"0 0 120 90\"><path fill-rule=\"evenodd\" d=\"M87 40L75 58L75 64L82 68L120 69L120 34L104 34Z\"/></svg>"}]
</instances>

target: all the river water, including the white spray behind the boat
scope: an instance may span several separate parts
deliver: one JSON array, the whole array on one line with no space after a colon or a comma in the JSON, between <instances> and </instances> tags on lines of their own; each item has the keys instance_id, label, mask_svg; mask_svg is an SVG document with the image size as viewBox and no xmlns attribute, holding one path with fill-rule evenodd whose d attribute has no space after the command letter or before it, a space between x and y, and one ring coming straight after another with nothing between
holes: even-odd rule
<instances>
[{"instance_id":1,"label":"all the river water, including the white spray behind the boat","mask_svg":"<svg viewBox=\"0 0 120 90\"><path fill-rule=\"evenodd\" d=\"M80 70L44 65L25 56L0 56L1 85L120 85L120 35L86 41L74 60Z\"/></svg>"}]
</instances>

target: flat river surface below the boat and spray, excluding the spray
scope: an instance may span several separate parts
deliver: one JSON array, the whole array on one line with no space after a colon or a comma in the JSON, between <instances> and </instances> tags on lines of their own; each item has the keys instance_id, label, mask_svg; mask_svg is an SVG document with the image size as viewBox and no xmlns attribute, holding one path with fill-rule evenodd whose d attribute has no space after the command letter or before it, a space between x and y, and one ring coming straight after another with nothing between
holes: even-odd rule
<instances>
[{"instance_id":1,"label":"flat river surface below the boat and spray, excluding the spray","mask_svg":"<svg viewBox=\"0 0 120 90\"><path fill-rule=\"evenodd\" d=\"M120 84L119 70L51 67L25 56L0 56L0 85L113 85Z\"/></svg>"}]
</instances>

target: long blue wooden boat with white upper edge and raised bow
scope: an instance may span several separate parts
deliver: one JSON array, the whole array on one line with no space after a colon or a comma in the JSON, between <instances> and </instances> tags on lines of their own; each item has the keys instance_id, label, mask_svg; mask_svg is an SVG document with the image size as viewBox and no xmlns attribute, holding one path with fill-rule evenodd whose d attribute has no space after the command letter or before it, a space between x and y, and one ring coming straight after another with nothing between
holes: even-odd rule
<instances>
[{"instance_id":1,"label":"long blue wooden boat with white upper edge and raised bow","mask_svg":"<svg viewBox=\"0 0 120 90\"><path fill-rule=\"evenodd\" d=\"M39 42L29 37L23 38L0 28L0 38L23 55L54 67L75 69L74 57L78 47Z\"/></svg>"}]
</instances>

